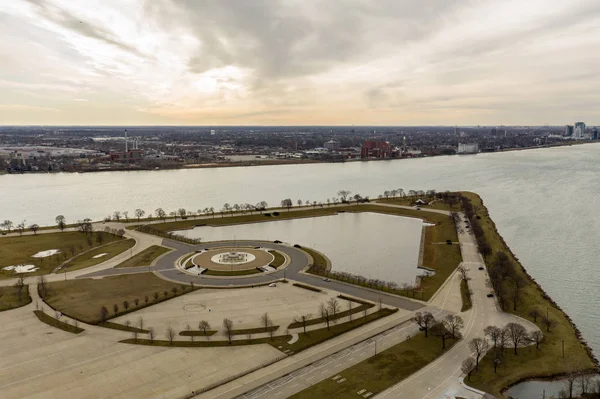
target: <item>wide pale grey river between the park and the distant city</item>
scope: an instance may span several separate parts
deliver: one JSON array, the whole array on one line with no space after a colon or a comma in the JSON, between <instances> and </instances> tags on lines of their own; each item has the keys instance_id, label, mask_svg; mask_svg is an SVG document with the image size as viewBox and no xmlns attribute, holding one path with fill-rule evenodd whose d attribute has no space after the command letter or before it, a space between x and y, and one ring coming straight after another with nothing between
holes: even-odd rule
<instances>
[{"instance_id":1,"label":"wide pale grey river between the park and the distant city","mask_svg":"<svg viewBox=\"0 0 600 399\"><path fill-rule=\"evenodd\" d=\"M347 164L0 176L0 220L50 224L115 210L220 209L284 198L324 201L340 189L470 190L530 274L600 353L600 144Z\"/></svg>"}]
</instances>

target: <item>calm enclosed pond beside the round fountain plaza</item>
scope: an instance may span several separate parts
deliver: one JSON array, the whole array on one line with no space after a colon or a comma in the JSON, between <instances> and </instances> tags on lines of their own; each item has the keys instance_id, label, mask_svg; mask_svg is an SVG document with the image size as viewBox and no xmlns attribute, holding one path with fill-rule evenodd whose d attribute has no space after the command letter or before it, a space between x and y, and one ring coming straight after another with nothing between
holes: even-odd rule
<instances>
[{"instance_id":1,"label":"calm enclosed pond beside the round fountain plaza","mask_svg":"<svg viewBox=\"0 0 600 399\"><path fill-rule=\"evenodd\" d=\"M421 219L365 212L203 226L177 233L203 241L256 239L300 244L326 254L333 270L401 285L414 283L417 274L421 274L417 273L417 266L422 229Z\"/></svg>"}]
</instances>

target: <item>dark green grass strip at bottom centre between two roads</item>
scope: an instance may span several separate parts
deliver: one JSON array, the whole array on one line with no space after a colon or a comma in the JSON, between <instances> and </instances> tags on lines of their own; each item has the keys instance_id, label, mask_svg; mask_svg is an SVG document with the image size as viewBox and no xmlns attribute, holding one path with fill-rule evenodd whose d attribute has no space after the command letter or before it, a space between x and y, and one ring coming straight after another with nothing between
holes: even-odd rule
<instances>
[{"instance_id":1,"label":"dark green grass strip at bottom centre between two roads","mask_svg":"<svg viewBox=\"0 0 600 399\"><path fill-rule=\"evenodd\" d=\"M357 392L363 389L366 389L363 394L372 392L374 396L425 367L452 345L452 340L448 340L446 349L442 349L439 339L425 338L420 333L339 372L340 379L346 379L344 382L327 378L290 398L358 398L361 395Z\"/></svg>"}]
</instances>

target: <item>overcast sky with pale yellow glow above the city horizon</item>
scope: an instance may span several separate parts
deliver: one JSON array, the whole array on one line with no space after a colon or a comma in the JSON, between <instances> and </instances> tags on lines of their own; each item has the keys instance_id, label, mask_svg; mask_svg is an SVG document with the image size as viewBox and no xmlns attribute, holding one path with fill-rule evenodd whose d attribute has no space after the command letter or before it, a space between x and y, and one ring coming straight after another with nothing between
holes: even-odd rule
<instances>
[{"instance_id":1,"label":"overcast sky with pale yellow glow above the city horizon","mask_svg":"<svg viewBox=\"0 0 600 399\"><path fill-rule=\"evenodd\" d=\"M600 123L598 0L2 0L0 124Z\"/></svg>"}]
</instances>

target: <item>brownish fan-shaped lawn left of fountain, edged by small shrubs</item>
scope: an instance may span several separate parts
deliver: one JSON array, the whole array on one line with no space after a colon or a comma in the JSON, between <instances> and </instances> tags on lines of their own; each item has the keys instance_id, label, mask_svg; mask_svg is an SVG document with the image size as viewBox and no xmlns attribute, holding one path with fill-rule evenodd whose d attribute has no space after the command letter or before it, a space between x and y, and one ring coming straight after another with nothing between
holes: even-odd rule
<instances>
[{"instance_id":1,"label":"brownish fan-shaped lawn left of fountain, edged by small shrubs","mask_svg":"<svg viewBox=\"0 0 600 399\"><path fill-rule=\"evenodd\" d=\"M38 286L39 287L39 286ZM191 291L191 287L175 284L156 277L152 273L138 273L123 276L109 276L102 279L75 279L47 283L48 294L45 302L63 314L89 324L99 324L100 308L106 306L109 311L108 318L121 316L123 301L130 304L129 311L135 311L148 305L159 303L165 299L173 298L171 291L174 287L178 294ZM165 291L167 295L164 295ZM155 299L155 293L158 299ZM139 306L135 306L135 299L139 299ZM113 304L119 306L120 312L115 315Z\"/></svg>"}]
</instances>

